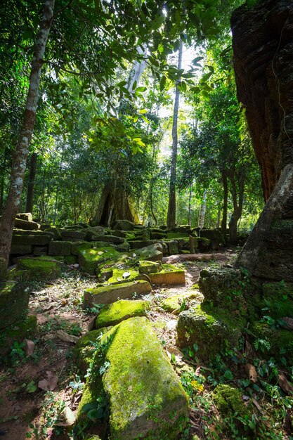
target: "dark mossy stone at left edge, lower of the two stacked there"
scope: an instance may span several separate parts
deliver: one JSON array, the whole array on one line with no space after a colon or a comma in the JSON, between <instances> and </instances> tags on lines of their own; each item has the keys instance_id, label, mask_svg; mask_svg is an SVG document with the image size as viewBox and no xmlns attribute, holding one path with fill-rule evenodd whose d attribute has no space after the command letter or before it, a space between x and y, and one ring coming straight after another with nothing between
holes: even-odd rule
<instances>
[{"instance_id":1,"label":"dark mossy stone at left edge, lower of the two stacked there","mask_svg":"<svg viewBox=\"0 0 293 440\"><path fill-rule=\"evenodd\" d=\"M0 330L0 356L6 356L14 342L22 342L25 338L32 339L37 333L37 316L13 323L8 328Z\"/></svg>"}]
</instances>

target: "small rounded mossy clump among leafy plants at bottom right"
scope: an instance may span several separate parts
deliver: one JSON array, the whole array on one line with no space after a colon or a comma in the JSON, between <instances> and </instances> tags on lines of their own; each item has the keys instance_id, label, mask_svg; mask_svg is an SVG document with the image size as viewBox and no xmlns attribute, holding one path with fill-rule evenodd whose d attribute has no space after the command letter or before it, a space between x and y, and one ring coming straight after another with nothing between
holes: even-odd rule
<instances>
[{"instance_id":1,"label":"small rounded mossy clump among leafy plants at bottom right","mask_svg":"<svg viewBox=\"0 0 293 440\"><path fill-rule=\"evenodd\" d=\"M245 405L240 389L219 384L214 389L213 399L223 417L232 416L235 413L242 418L249 418L252 415L252 408Z\"/></svg>"}]
</instances>

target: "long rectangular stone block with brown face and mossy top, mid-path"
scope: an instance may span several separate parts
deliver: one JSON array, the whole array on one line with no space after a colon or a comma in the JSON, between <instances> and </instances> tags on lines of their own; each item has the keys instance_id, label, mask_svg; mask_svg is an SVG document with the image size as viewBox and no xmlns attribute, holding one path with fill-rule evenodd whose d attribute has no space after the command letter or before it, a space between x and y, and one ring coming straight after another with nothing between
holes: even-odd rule
<instances>
[{"instance_id":1,"label":"long rectangular stone block with brown face and mossy top, mid-path","mask_svg":"<svg viewBox=\"0 0 293 440\"><path fill-rule=\"evenodd\" d=\"M93 287L84 292L84 303L91 304L110 304L118 299L126 299L136 295L145 295L152 291L148 281L138 280L132 283L122 283L101 287Z\"/></svg>"}]
</instances>

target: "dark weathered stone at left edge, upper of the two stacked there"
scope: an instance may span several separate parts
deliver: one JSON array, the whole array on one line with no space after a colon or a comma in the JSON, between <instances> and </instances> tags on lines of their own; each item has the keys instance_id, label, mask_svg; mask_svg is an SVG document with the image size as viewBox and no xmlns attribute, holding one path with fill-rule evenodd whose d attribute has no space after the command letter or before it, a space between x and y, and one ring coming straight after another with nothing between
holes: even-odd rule
<instances>
[{"instance_id":1,"label":"dark weathered stone at left edge, upper of the two stacked there","mask_svg":"<svg viewBox=\"0 0 293 440\"><path fill-rule=\"evenodd\" d=\"M27 316L30 291L20 283L0 283L0 328L20 321Z\"/></svg>"}]
</instances>

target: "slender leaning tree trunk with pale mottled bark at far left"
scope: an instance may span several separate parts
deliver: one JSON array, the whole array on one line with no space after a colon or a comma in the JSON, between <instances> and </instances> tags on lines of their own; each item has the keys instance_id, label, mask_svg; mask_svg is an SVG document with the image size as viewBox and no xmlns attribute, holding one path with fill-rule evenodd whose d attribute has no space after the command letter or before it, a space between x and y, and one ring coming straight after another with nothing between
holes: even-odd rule
<instances>
[{"instance_id":1,"label":"slender leaning tree trunk with pale mottled bark at far left","mask_svg":"<svg viewBox=\"0 0 293 440\"><path fill-rule=\"evenodd\" d=\"M25 108L22 129L20 131L18 143L15 147L11 171L11 185L6 201L6 208L1 219L0 257L6 260L6 264L8 264L15 215L17 214L20 205L27 155L30 148L30 141L32 139L32 132L34 130L34 122L36 121L36 112L39 101L39 84L41 81L41 65L44 60L46 43L53 19L54 4L55 0L46 0L44 4L43 18L41 20L39 34L34 48L34 56L32 58L27 105Z\"/></svg>"}]
</instances>

